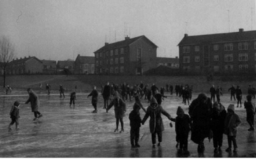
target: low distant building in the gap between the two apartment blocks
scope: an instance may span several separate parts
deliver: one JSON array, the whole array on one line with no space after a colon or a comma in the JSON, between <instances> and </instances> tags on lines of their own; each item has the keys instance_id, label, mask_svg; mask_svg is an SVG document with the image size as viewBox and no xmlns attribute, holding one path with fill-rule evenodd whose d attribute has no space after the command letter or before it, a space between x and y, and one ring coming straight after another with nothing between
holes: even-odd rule
<instances>
[{"instance_id":1,"label":"low distant building in the gap between the two apartment blocks","mask_svg":"<svg viewBox=\"0 0 256 159\"><path fill-rule=\"evenodd\" d=\"M169 57L156 57L157 67L167 66L170 68L179 68L179 58L169 58Z\"/></svg>"}]
</instances>

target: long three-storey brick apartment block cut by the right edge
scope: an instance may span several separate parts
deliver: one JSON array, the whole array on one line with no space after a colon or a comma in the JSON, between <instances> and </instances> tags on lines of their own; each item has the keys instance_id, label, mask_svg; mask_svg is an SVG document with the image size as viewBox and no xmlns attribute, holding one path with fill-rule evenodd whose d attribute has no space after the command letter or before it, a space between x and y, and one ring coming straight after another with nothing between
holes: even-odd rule
<instances>
[{"instance_id":1,"label":"long three-storey brick apartment block cut by the right edge","mask_svg":"<svg viewBox=\"0 0 256 159\"><path fill-rule=\"evenodd\" d=\"M181 72L255 73L256 31L185 34L178 44Z\"/></svg>"}]
</instances>

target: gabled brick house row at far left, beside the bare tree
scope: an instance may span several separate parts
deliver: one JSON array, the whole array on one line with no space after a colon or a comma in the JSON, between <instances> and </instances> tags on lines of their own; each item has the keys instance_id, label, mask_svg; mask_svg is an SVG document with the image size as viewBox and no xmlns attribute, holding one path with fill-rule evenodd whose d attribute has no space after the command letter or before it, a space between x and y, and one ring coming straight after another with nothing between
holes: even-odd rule
<instances>
[{"instance_id":1,"label":"gabled brick house row at far left, beside the bare tree","mask_svg":"<svg viewBox=\"0 0 256 159\"><path fill-rule=\"evenodd\" d=\"M6 74L38 74L43 73L43 62L36 57L24 57L12 60L6 67Z\"/></svg>"}]
</instances>

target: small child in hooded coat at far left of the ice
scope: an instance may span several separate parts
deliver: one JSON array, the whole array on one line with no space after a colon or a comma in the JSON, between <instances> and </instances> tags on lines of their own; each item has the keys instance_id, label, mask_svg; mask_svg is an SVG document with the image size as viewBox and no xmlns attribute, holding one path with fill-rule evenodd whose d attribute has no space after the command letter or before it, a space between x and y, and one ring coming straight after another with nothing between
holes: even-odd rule
<instances>
[{"instance_id":1,"label":"small child in hooded coat at far left of the ice","mask_svg":"<svg viewBox=\"0 0 256 159\"><path fill-rule=\"evenodd\" d=\"M19 129L19 118L20 118L20 111L19 111L19 107L20 107L20 102L15 101L12 109L10 111L10 118L12 119L12 122L10 123L10 125L8 126L8 130L11 131L11 126L15 123L16 126L16 130Z\"/></svg>"}]
</instances>

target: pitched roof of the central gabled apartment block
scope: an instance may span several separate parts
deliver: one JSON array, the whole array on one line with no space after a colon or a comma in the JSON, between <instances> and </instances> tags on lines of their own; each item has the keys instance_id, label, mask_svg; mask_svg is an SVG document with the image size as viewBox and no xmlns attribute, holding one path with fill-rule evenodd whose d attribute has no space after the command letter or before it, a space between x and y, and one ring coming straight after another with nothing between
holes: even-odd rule
<instances>
[{"instance_id":1,"label":"pitched roof of the central gabled apartment block","mask_svg":"<svg viewBox=\"0 0 256 159\"><path fill-rule=\"evenodd\" d=\"M141 36L138 36L138 37L135 37L135 38L129 38L129 39L126 39L126 40L123 40L123 41L107 44L107 45L101 47L100 49L98 49L97 51L95 51L94 53L100 52L102 50L109 50L109 49L115 49L115 48L120 48L120 47L128 46L128 45L132 44L133 42L139 40L140 38L145 38L148 42L150 42L151 44L156 46L156 44L151 42L145 35L141 35Z\"/></svg>"}]
</instances>

